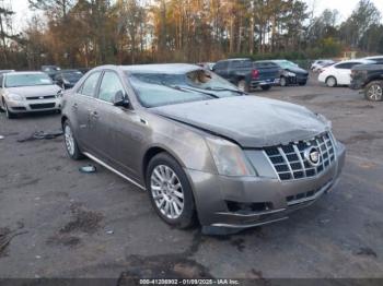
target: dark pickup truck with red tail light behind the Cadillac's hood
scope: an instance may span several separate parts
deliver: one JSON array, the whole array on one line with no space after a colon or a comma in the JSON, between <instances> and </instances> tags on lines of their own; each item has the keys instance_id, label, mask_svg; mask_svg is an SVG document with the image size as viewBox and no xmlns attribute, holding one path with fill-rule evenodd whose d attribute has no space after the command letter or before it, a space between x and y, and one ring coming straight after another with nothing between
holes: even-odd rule
<instances>
[{"instance_id":1,"label":"dark pickup truck with red tail light behind the Cadillac's hood","mask_svg":"<svg viewBox=\"0 0 383 286\"><path fill-rule=\"evenodd\" d=\"M212 71L244 92L251 92L257 87L267 91L279 83L278 67L253 62L247 58L221 60L214 64Z\"/></svg>"}]
</instances>

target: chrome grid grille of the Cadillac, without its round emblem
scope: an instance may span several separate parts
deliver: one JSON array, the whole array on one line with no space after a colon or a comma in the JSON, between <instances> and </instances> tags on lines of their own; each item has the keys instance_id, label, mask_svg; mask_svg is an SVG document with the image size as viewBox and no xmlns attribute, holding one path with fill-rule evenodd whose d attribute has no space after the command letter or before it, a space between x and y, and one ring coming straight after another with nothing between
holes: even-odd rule
<instances>
[{"instance_id":1,"label":"chrome grid grille of the Cadillac, without its round emblem","mask_svg":"<svg viewBox=\"0 0 383 286\"><path fill-rule=\"evenodd\" d=\"M321 160L316 167L304 157L304 151L310 146L316 146L320 151ZM264 152L282 181L314 177L327 169L335 160L334 144L328 132L312 140L266 147Z\"/></svg>"}]
</instances>

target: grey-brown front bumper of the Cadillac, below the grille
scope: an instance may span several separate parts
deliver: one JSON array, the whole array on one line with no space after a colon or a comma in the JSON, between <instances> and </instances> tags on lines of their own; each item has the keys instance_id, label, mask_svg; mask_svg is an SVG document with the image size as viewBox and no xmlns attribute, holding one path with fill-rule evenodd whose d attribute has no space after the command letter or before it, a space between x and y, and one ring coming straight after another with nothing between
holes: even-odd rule
<instances>
[{"instance_id":1,"label":"grey-brown front bumper of the Cadillac, below the grille","mask_svg":"<svg viewBox=\"0 0 383 286\"><path fill-rule=\"evenodd\" d=\"M277 175L237 178L186 169L200 224L242 229L287 219L289 213L309 206L336 186L346 156L341 143L336 148L336 159L323 172L291 181L281 181ZM262 172L267 174L265 168Z\"/></svg>"}]
</instances>

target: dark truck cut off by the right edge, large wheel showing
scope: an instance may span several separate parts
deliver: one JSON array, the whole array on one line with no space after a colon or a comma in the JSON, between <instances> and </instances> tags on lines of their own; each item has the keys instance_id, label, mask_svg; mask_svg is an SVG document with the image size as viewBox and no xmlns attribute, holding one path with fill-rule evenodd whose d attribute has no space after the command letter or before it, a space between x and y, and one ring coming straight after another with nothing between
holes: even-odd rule
<instances>
[{"instance_id":1,"label":"dark truck cut off by the right edge, large wheel showing","mask_svg":"<svg viewBox=\"0 0 383 286\"><path fill-rule=\"evenodd\" d=\"M383 100L383 64L359 64L351 70L352 90L364 90L364 97L372 102Z\"/></svg>"}]
</instances>

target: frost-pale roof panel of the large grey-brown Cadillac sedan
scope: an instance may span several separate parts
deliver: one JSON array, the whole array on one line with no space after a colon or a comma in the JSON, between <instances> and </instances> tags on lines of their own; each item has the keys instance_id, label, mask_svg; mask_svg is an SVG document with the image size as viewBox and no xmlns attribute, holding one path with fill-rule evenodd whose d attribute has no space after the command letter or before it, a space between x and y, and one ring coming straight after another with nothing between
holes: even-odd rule
<instances>
[{"instance_id":1,"label":"frost-pale roof panel of the large grey-brown Cadillac sedan","mask_svg":"<svg viewBox=\"0 0 383 286\"><path fill-rule=\"evenodd\" d=\"M135 64L135 65L120 65L124 71L138 73L169 73L169 74L183 74L195 70L200 70L201 67L189 63L159 63L159 64Z\"/></svg>"}]
</instances>

